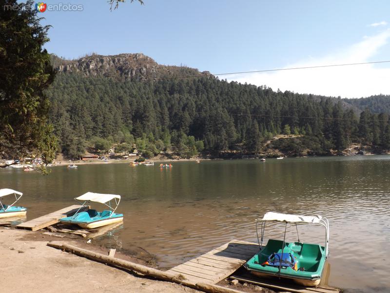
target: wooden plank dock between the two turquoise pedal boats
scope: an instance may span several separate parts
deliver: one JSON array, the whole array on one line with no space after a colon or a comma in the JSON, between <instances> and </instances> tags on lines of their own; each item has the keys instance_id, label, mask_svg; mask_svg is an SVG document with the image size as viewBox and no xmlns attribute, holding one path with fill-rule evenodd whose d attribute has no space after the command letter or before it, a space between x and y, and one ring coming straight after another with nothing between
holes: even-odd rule
<instances>
[{"instance_id":1,"label":"wooden plank dock between the two turquoise pedal boats","mask_svg":"<svg viewBox=\"0 0 390 293\"><path fill-rule=\"evenodd\" d=\"M21 223L17 225L16 227L19 229L26 229L26 230L32 230L37 231L39 229L46 228L50 225L57 224L59 222L60 218L68 217L76 213L76 211L82 206L80 205L72 205L70 207L60 209L57 211L54 211L52 213L49 213L47 215L41 216L39 218ZM89 206L86 206L80 210L86 210L89 209Z\"/></svg>"}]
</instances>

